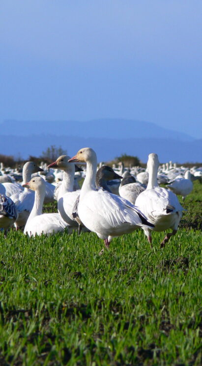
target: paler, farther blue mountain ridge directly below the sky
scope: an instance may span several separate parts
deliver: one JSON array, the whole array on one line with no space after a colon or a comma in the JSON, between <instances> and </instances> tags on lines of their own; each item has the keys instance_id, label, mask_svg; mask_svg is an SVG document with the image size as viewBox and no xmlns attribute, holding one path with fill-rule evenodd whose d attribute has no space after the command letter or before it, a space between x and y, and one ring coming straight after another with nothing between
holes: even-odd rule
<instances>
[{"instance_id":1,"label":"paler, farther blue mountain ridge directly below the sky","mask_svg":"<svg viewBox=\"0 0 202 366\"><path fill-rule=\"evenodd\" d=\"M12 132L16 136L52 134L84 138L172 138L194 141L194 138L186 133L168 130L151 122L109 118L87 122L7 120L0 125L0 131L3 135L9 135Z\"/></svg>"}]
</instances>

